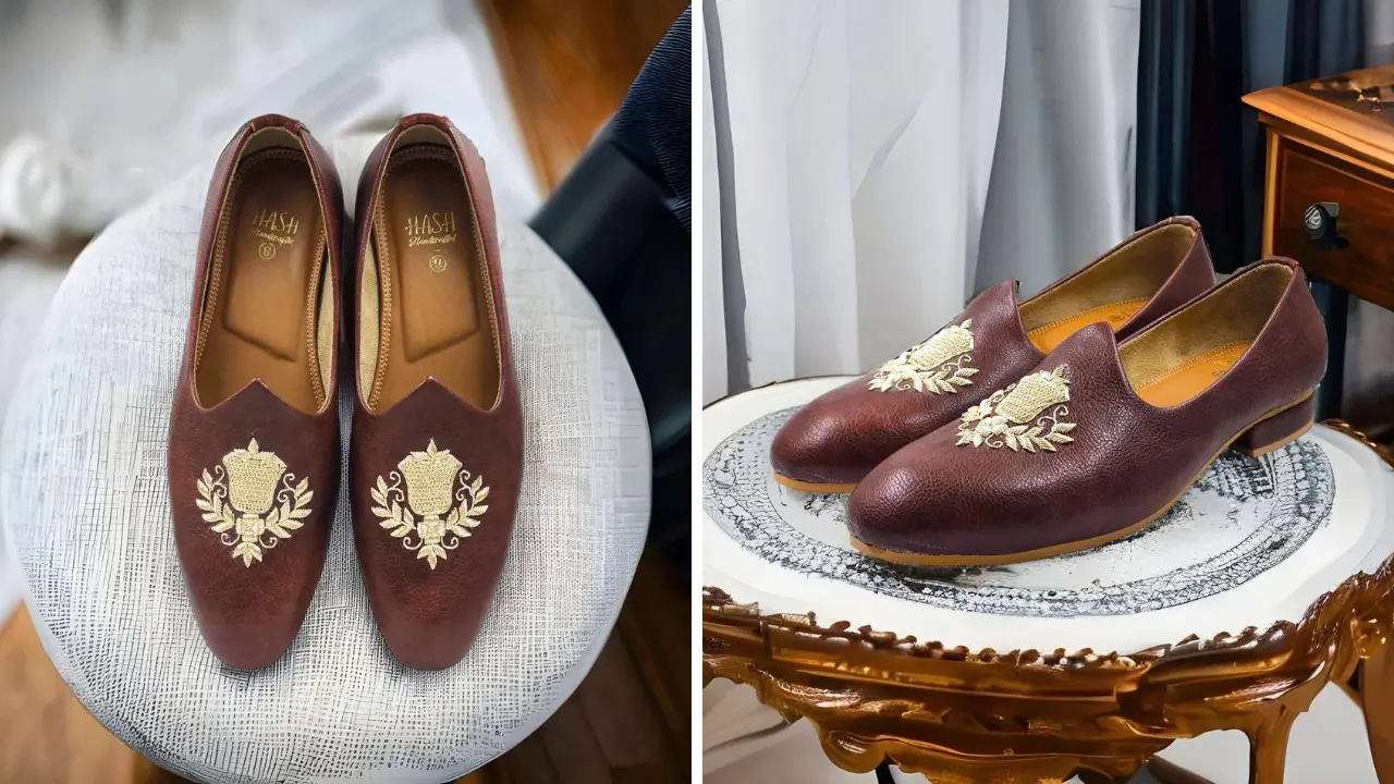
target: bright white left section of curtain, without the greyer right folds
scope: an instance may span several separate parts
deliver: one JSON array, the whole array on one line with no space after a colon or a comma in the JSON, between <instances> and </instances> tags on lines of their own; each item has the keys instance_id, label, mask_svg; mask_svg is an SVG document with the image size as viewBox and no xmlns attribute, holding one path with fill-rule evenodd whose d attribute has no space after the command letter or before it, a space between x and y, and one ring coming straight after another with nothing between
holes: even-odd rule
<instances>
[{"instance_id":1,"label":"bright white left section of curtain, without the greyer right folds","mask_svg":"<svg viewBox=\"0 0 1394 784\"><path fill-rule=\"evenodd\" d=\"M729 384L860 370L959 310L1006 0L717 0L705 24Z\"/></svg>"}]
</instances>

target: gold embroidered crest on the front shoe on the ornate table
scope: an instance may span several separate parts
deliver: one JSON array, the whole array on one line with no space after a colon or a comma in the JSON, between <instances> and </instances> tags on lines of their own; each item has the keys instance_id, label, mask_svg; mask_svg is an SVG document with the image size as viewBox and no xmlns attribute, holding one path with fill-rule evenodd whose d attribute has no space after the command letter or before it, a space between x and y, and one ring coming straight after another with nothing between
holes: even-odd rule
<instances>
[{"instance_id":1,"label":"gold embroidered crest on the front shoe on the ornate table","mask_svg":"<svg viewBox=\"0 0 1394 784\"><path fill-rule=\"evenodd\" d=\"M1069 379L1065 365L1040 371L993 392L959 417L958 446L987 446L1012 452L1054 452L1055 445L1075 441L1069 431ZM1047 413L1047 410L1050 413Z\"/></svg>"}]
</instances>

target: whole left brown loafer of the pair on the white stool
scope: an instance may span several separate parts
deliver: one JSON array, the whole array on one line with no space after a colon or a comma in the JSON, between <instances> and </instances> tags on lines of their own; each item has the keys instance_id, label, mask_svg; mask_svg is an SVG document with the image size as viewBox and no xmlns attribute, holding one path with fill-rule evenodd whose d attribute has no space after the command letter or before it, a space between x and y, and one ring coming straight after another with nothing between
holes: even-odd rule
<instances>
[{"instance_id":1,"label":"whole left brown loafer of the pair on the white stool","mask_svg":"<svg viewBox=\"0 0 1394 784\"><path fill-rule=\"evenodd\" d=\"M290 647L339 488L343 191L289 117L258 117L213 170L170 413L174 544L208 647L265 667Z\"/></svg>"}]
</instances>

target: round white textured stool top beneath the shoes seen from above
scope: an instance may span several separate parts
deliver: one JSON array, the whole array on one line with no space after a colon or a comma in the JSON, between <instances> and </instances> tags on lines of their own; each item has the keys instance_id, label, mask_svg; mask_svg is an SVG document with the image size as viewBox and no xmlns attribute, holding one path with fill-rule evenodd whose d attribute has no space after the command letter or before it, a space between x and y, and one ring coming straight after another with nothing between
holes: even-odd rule
<instances>
[{"instance_id":1,"label":"round white textured stool top beneath the shoes seen from above","mask_svg":"<svg viewBox=\"0 0 1394 784\"><path fill-rule=\"evenodd\" d=\"M354 193L357 162L340 170ZM500 216L527 448L509 559L474 647L442 672L390 657L358 573L344 478L294 646L266 670L227 670L194 625L164 473L208 176L164 188L78 257L14 395L0 523L43 646L103 725L194 780L461 776L570 695L634 573L651 460L619 342L562 261ZM340 389L347 456L353 386Z\"/></svg>"}]
</instances>

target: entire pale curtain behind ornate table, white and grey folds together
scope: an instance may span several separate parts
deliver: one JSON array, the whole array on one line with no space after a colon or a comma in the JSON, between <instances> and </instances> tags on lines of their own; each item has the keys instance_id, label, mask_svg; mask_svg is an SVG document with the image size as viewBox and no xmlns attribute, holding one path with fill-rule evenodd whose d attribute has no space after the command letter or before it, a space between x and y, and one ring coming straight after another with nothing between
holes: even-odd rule
<instances>
[{"instance_id":1,"label":"entire pale curtain behind ornate table, white and grey folds together","mask_svg":"<svg viewBox=\"0 0 1394 784\"><path fill-rule=\"evenodd\" d=\"M1119 240L1138 6L708 0L704 398L860 372Z\"/></svg>"}]
</instances>

